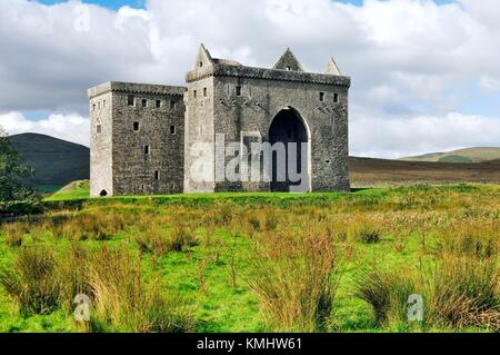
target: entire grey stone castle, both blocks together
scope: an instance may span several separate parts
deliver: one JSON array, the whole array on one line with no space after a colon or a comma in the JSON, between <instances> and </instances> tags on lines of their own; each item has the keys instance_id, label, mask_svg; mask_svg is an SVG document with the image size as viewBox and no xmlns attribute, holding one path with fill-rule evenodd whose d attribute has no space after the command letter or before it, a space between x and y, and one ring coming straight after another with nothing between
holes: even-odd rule
<instances>
[{"instance_id":1,"label":"entire grey stone castle, both blocks together","mask_svg":"<svg viewBox=\"0 0 500 355\"><path fill-rule=\"evenodd\" d=\"M203 142L217 149L218 135L246 146L304 144L304 190L349 190L351 79L333 59L324 73L311 73L287 50L273 68L253 68L212 58L201 45L186 81L112 81L88 90L91 196L292 190L296 183L276 181L274 175L261 181L196 179L192 148Z\"/></svg>"}]
</instances>

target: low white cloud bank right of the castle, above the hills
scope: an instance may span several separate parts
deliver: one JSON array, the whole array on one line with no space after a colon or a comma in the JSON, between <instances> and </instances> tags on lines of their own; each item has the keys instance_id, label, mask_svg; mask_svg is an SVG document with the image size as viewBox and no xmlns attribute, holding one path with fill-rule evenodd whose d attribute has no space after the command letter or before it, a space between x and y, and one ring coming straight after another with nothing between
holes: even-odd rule
<instances>
[{"instance_id":1,"label":"low white cloud bank right of the castle, above the hills","mask_svg":"<svg viewBox=\"0 0 500 355\"><path fill-rule=\"evenodd\" d=\"M351 155L400 158L500 142L500 120L451 112L388 118L358 111L350 126Z\"/></svg>"}]
</instances>

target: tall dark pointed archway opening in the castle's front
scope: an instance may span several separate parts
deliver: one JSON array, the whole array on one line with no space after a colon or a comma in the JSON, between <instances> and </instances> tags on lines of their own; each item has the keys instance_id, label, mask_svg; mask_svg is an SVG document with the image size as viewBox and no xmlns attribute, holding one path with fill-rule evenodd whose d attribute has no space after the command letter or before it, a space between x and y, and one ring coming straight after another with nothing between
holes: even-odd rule
<instances>
[{"instance_id":1,"label":"tall dark pointed archway opening in the castle's front","mask_svg":"<svg viewBox=\"0 0 500 355\"><path fill-rule=\"evenodd\" d=\"M273 146L270 167L271 191L309 191L310 155L309 151L304 150L310 149L310 141L308 128L299 112L292 108L284 108L279 111L269 127L268 137L269 142ZM282 149L286 152L284 159L279 159L278 154L282 149L277 148L277 144L282 144ZM303 159L307 160L303 161ZM297 174L301 176L300 180L297 180Z\"/></svg>"}]
</instances>

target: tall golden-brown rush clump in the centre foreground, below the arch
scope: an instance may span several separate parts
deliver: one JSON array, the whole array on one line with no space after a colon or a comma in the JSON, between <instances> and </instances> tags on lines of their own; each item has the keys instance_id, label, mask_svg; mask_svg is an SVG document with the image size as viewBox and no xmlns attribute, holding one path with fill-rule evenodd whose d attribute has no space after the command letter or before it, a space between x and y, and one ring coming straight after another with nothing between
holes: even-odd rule
<instances>
[{"instance_id":1,"label":"tall golden-brown rush clump in the centre foreground, below the arch","mask_svg":"<svg viewBox=\"0 0 500 355\"><path fill-rule=\"evenodd\" d=\"M336 293L332 239L309 229L299 235L266 233L256 243L249 285L269 325L278 331L327 329Z\"/></svg>"}]
</instances>

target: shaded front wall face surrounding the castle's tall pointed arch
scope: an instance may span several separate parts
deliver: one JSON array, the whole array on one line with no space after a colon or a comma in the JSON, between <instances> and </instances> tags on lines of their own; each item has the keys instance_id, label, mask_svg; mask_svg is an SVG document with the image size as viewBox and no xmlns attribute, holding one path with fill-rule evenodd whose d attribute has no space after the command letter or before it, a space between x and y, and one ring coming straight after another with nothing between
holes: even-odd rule
<instances>
[{"instance_id":1,"label":"shaded front wall face surrounding the castle's tall pointed arch","mask_svg":"<svg viewBox=\"0 0 500 355\"><path fill-rule=\"evenodd\" d=\"M226 134L227 140L249 135L268 141L273 118L283 108L293 108L310 135L312 190L349 189L348 87L234 77L217 77L214 82L216 132ZM241 97L236 96L237 86L241 87ZM324 95L323 101L320 92ZM243 184L243 187L266 190L269 184ZM230 183L217 186L218 190L238 188Z\"/></svg>"}]
</instances>

